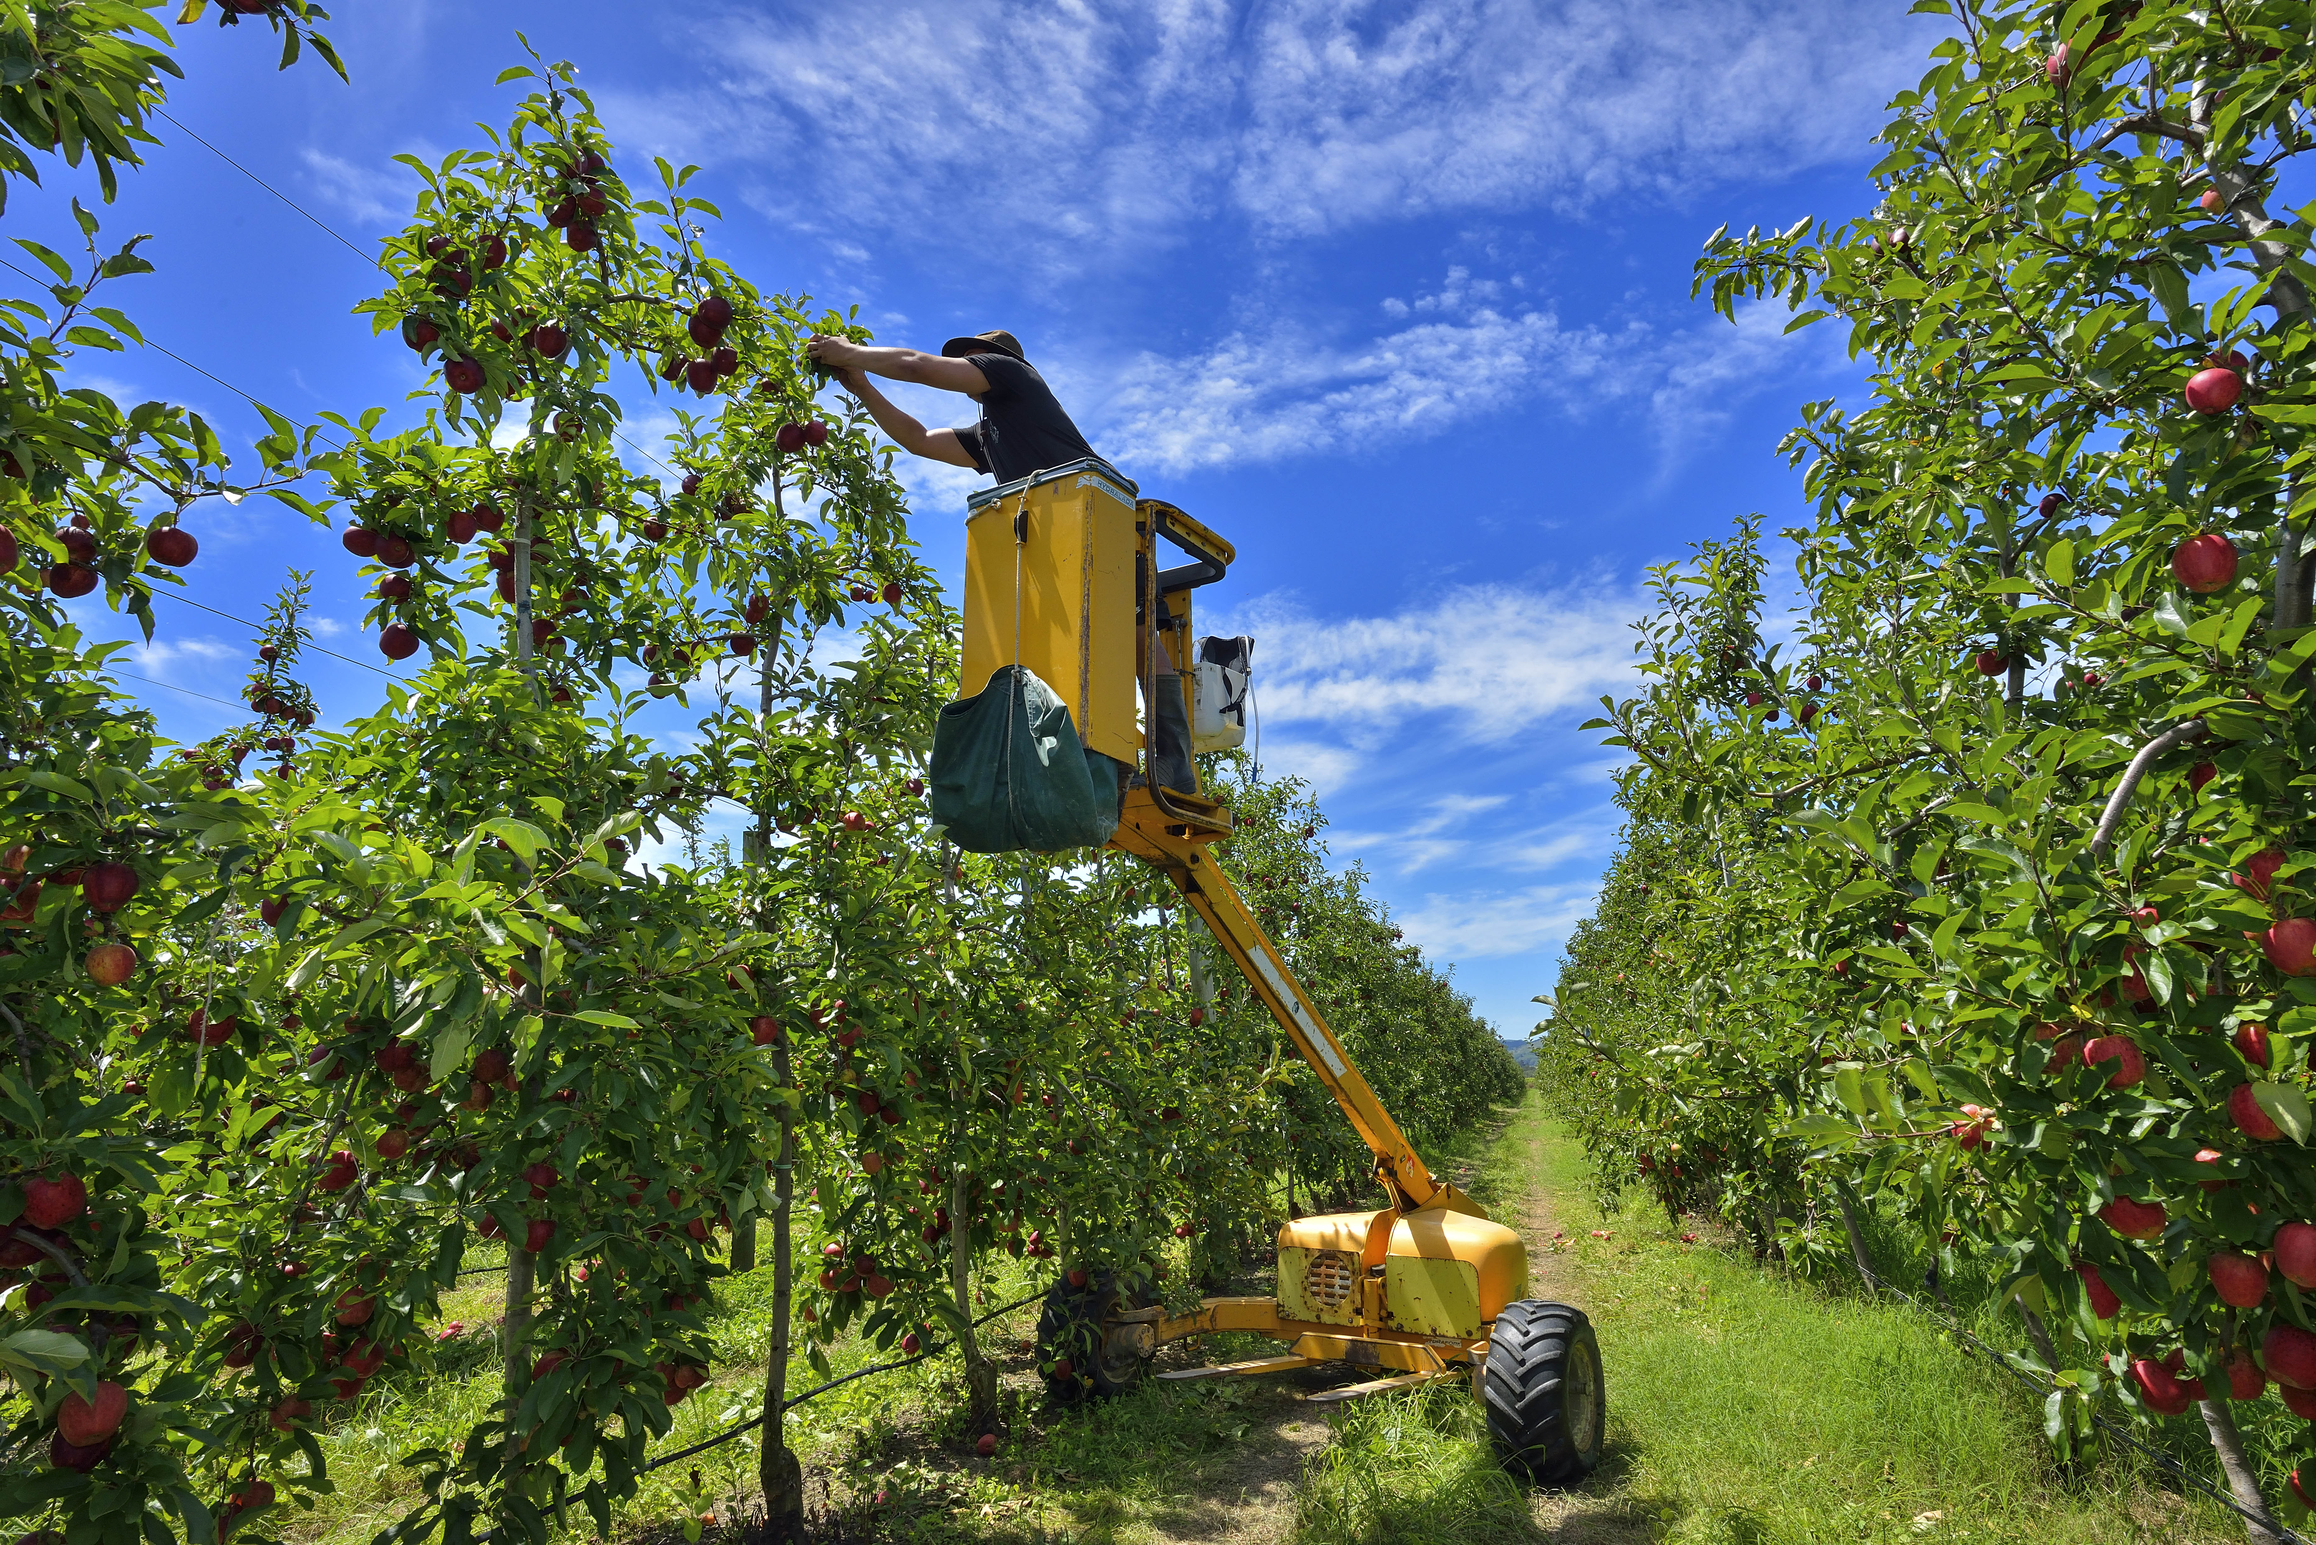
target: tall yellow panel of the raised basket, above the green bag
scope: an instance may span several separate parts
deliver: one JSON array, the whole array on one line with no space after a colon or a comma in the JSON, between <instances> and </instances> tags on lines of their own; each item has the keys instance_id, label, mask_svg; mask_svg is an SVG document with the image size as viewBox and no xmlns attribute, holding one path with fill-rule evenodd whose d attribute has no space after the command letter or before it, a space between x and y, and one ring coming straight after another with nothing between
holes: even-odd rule
<instances>
[{"instance_id":1,"label":"tall yellow panel of the raised basket, above the green bag","mask_svg":"<svg viewBox=\"0 0 2316 1545\"><path fill-rule=\"evenodd\" d=\"M959 690L973 697L991 672L1026 665L1070 706L1086 750L1137 764L1135 484L1102 461L1072 461L984 489L966 507Z\"/></svg>"}]
</instances>

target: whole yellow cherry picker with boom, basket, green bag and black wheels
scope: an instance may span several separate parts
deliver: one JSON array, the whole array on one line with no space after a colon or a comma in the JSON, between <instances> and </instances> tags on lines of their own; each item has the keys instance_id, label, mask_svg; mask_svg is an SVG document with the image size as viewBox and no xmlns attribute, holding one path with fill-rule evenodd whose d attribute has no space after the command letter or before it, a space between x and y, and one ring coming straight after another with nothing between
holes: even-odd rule
<instances>
[{"instance_id":1,"label":"whole yellow cherry picker with boom, basket, green bag and black wheels","mask_svg":"<svg viewBox=\"0 0 2316 1545\"><path fill-rule=\"evenodd\" d=\"M1188 563L1160 568L1160 540ZM1505 1464L1570 1482L1603 1445L1589 1320L1526 1297L1519 1235L1424 1167L1214 857L1230 811L1197 792L1190 753L1244 734L1248 642L1193 644L1190 598L1234 556L1098 459L975 493L963 681L980 690L943 711L933 815L968 850L1107 841L1165 873L1373 1151L1385 1204L1288 1221L1271 1297L1165 1313L1114 1276L1056 1286L1040 1325L1047 1357L1070 1355L1070 1387L1056 1392L1116 1394L1167 1341L1255 1332L1288 1350L1158 1378L1371 1374L1311 1401L1468 1378Z\"/></svg>"}]
</instances>

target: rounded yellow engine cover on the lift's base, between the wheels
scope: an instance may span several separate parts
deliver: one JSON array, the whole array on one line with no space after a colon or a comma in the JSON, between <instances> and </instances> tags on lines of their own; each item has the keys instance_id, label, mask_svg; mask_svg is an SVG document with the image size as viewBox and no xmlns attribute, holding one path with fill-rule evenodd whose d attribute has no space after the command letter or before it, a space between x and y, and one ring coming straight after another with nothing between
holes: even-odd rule
<instances>
[{"instance_id":1,"label":"rounded yellow engine cover on the lift's base, between the wheels","mask_svg":"<svg viewBox=\"0 0 2316 1545\"><path fill-rule=\"evenodd\" d=\"M1373 1230L1383 1246L1383 1325L1422 1337L1480 1337L1503 1306L1529 1293L1529 1246L1519 1235L1450 1207L1406 1216L1339 1211L1278 1230L1278 1316L1357 1325L1359 1283Z\"/></svg>"}]
</instances>

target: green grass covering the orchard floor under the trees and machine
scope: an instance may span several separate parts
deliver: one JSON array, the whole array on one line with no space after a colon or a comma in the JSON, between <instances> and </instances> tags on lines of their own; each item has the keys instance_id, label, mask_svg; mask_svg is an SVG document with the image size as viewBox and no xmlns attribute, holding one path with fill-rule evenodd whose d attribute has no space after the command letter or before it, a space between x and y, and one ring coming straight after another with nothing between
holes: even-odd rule
<instances>
[{"instance_id":1,"label":"green grass covering the orchard floor under the trees and machine","mask_svg":"<svg viewBox=\"0 0 2316 1545\"><path fill-rule=\"evenodd\" d=\"M1580 1149L1531 1100L1492 1144L1473 1133L1443 1172L1531 1235L1536 1295L1566 1297L1600 1332L1610 1455L1589 1485L1540 1494L1494 1462L1468 1385L1441 1383L1320 1413L1281 1381L1146 1383L1126 1399L1056 1408L1042 1399L1024 1337L1035 1306L984 1337L1005 1367L1005 1441L968 1455L952 1360L866 1378L790 1415L790 1443L815 1506L845 1538L933 1545L1142 1545L1144 1540L1292 1538L1304 1545L1624 1545L2036 1540L2047 1545L2235 1545L2216 1506L2182 1501L2119 1459L2061 1473L2033 1397L1966 1357L1911 1309L1867 1302L1844 1283L1760 1267L1735 1239L1661 1214L1600 1214ZM1556 1246L1552 1228L1566 1239ZM1607 1239L1593 1239L1605 1230ZM1904 1242L1876 1237L1899 1267ZM1001 1262L991 1304L1026 1293ZM1915 1267L1918 1269L1918 1267ZM1179 1272L1174 1281L1181 1281ZM1973 1281L1952 1290L1973 1327L2008 1343ZM364 1545L412 1501L398 1452L456 1441L496 1394L486 1325L496 1281L445 1304L475 1327L431 1376L382 1381L324 1436L340 1492L283 1520L294 1545ZM718 1286L716 1383L676 1408L662 1452L755 1411L769 1346L771 1274ZM1276 1350L1255 1337L1167 1348L1170 1362ZM831 1348L836 1371L885 1355ZM799 1360L790 1390L818 1383ZM1313 1436L1327 1425L1325 1443ZM2186 1434L2172 1434L2175 1445ZM653 1473L616 1520L623 1538L672 1538L669 1524L755 1494L757 1443ZM699 1485L692 1485L692 1471ZM1269 1499L1253 1515L1246 1499ZM574 1538L591 1533L572 1520Z\"/></svg>"}]
</instances>

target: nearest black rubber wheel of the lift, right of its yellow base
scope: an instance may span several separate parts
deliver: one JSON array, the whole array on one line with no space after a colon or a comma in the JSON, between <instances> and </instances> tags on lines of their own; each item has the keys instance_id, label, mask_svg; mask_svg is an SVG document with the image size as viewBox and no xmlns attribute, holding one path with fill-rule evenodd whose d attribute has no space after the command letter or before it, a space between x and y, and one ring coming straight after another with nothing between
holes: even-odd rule
<instances>
[{"instance_id":1,"label":"nearest black rubber wheel of the lift, right of its yellow base","mask_svg":"<svg viewBox=\"0 0 2316 1545\"><path fill-rule=\"evenodd\" d=\"M1570 1304L1505 1304L1487 1341L1480 1399L1503 1466L1570 1485L1600 1464L1607 1387L1591 1320Z\"/></svg>"}]
</instances>

